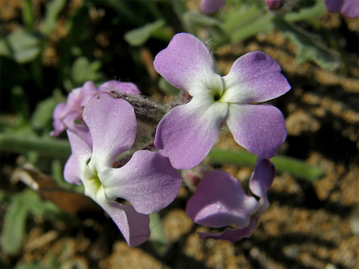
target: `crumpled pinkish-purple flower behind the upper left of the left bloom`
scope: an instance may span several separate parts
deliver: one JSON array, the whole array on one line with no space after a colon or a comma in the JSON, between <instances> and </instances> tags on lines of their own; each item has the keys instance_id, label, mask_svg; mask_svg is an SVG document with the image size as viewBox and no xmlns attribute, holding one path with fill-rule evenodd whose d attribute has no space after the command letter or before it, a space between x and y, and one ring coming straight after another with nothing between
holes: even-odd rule
<instances>
[{"instance_id":1,"label":"crumpled pinkish-purple flower behind the upper left of the left bloom","mask_svg":"<svg viewBox=\"0 0 359 269\"><path fill-rule=\"evenodd\" d=\"M54 131L51 136L58 136L65 129L71 129L92 147L91 136L82 119L82 110L85 104L100 91L121 91L129 94L141 94L137 86L131 82L110 80L98 88L92 81L87 81L80 88L73 89L67 97L66 103L58 104L53 110Z\"/></svg>"}]
</instances>

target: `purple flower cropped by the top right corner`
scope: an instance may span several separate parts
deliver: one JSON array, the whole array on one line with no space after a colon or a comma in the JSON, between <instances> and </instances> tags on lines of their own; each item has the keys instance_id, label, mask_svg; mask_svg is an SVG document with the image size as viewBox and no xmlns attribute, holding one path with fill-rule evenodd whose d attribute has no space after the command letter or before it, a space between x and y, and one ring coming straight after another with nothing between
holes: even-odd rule
<instances>
[{"instance_id":1,"label":"purple flower cropped by the top right corner","mask_svg":"<svg viewBox=\"0 0 359 269\"><path fill-rule=\"evenodd\" d=\"M358 0L324 0L326 8L332 13L340 13L348 18L359 16Z\"/></svg>"}]
</instances>

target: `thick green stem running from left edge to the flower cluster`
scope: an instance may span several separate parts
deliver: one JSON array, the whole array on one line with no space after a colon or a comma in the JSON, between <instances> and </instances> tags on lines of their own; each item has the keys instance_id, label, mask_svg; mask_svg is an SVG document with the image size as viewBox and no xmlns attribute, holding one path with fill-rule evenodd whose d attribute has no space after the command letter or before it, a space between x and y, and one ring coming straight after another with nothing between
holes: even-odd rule
<instances>
[{"instance_id":1,"label":"thick green stem running from left edge to the flower cluster","mask_svg":"<svg viewBox=\"0 0 359 269\"><path fill-rule=\"evenodd\" d=\"M0 149L5 152L22 154L36 151L40 155L56 158L68 158L71 154L68 140L25 137L8 133L0 134Z\"/></svg>"}]
</instances>

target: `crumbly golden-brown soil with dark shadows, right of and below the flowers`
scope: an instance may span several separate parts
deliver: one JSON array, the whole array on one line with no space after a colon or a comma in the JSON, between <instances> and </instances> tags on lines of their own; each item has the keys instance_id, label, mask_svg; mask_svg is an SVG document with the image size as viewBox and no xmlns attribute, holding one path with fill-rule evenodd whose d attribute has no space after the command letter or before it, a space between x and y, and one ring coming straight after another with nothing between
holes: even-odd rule
<instances>
[{"instance_id":1,"label":"crumbly golden-brown soil with dark shadows, right of and below the flowers","mask_svg":"<svg viewBox=\"0 0 359 269\"><path fill-rule=\"evenodd\" d=\"M341 23L337 15L325 19L334 24L328 27ZM358 30L358 20L342 23ZM209 229L186 216L191 192L183 187L160 212L169 241L163 255L153 250L151 241L128 247L107 216L84 212L79 226L29 220L21 253L2 252L1 259L10 266L34 260L46 266L55 256L61 268L359 268L359 223L352 223L359 202L358 52L349 52L348 65L334 72L311 62L298 65L294 44L271 32L219 48L217 65L227 74L234 60L254 50L274 57L292 85L289 93L270 102L284 113L288 128L279 153L320 166L325 176L312 184L277 173L269 190L271 206L251 238L235 244L200 239L196 232ZM241 150L229 133L216 146ZM221 168L243 184L251 175L247 167Z\"/></svg>"}]
</instances>

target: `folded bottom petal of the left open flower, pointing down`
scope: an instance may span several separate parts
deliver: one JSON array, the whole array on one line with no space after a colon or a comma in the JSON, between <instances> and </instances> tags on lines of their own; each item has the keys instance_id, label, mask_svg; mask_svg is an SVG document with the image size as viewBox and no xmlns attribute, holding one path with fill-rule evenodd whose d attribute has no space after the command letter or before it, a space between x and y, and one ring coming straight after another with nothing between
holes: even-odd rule
<instances>
[{"instance_id":1,"label":"folded bottom petal of the left open flower, pointing down","mask_svg":"<svg viewBox=\"0 0 359 269\"><path fill-rule=\"evenodd\" d=\"M116 223L129 246L138 246L149 239L150 219L148 215L136 212L130 205L109 202L105 199L96 202Z\"/></svg>"}]
</instances>

